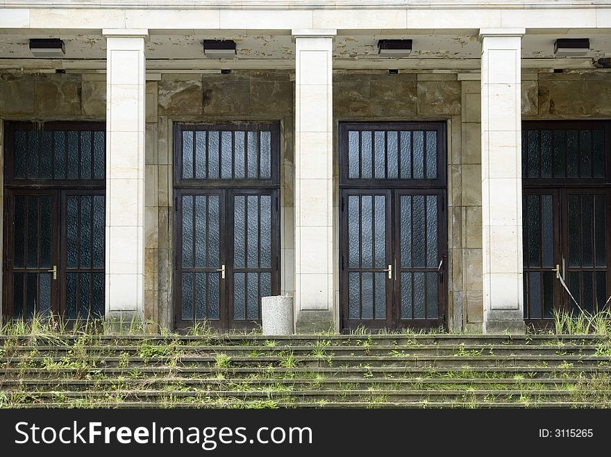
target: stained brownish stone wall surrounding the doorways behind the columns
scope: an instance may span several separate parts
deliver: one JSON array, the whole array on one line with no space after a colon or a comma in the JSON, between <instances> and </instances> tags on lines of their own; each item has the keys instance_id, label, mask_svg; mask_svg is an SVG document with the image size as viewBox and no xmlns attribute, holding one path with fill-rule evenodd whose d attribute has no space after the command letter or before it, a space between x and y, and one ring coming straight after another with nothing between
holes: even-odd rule
<instances>
[{"instance_id":1,"label":"stained brownish stone wall surrounding the doorways behind the columns","mask_svg":"<svg viewBox=\"0 0 611 457\"><path fill-rule=\"evenodd\" d=\"M234 71L228 75L148 76L144 265L147 319L162 327L171 327L173 322L171 132L177 121L281 122L282 291L294 291L293 75L290 71ZM336 72L333 80L335 132L338 122L349 120L446 122L449 323L457 329L481 329L480 81L474 80L473 75L367 71ZM521 87L524 119L611 118L608 71L523 74ZM103 74L0 73L0 121L103 121L105 98ZM0 162L2 138L0 128ZM334 151L337 182L337 137ZM336 226L337 202L336 191ZM0 212L0 228L1 222ZM337 231L335 236L337 246ZM338 250L335 259L339 265ZM335 288L339 288L337 279Z\"/></svg>"}]
</instances>

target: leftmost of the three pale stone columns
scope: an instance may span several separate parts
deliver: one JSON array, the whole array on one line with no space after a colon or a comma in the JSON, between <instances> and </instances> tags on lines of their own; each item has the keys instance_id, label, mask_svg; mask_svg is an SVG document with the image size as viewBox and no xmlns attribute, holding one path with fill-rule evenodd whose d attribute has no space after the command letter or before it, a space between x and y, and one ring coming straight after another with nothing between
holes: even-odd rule
<instances>
[{"instance_id":1,"label":"leftmost of the three pale stone columns","mask_svg":"<svg viewBox=\"0 0 611 457\"><path fill-rule=\"evenodd\" d=\"M106 317L144 317L144 38L105 29Z\"/></svg>"}]
</instances>

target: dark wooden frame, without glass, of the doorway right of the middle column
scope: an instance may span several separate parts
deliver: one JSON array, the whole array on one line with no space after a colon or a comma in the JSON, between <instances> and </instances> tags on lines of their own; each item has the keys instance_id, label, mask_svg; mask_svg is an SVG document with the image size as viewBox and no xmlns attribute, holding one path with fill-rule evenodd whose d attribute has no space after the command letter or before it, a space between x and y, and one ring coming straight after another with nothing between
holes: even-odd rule
<instances>
[{"instance_id":1,"label":"dark wooden frame, without glass, of the doorway right of the middle column","mask_svg":"<svg viewBox=\"0 0 611 457\"><path fill-rule=\"evenodd\" d=\"M377 130L377 131L399 131L399 130L427 130L435 131L437 137L437 177L435 179L349 179L348 172L348 131L349 130ZM387 257L393 266L393 279L390 282L390 292L387 293L390 309L392 312L387 315L387 320L376 322L375 320L367 320L355 322L355 325L367 325L370 328L447 328L448 315L448 280L446 275L447 266L447 212L446 212L446 125L442 122L345 122L339 126L339 161L340 161L340 328L349 330L354 328L354 325L348 324L348 280L347 280L347 202L344 201L346 193L383 193L388 192L390 197L390 227L387 227L387 236L393 240L390 250L387 250ZM399 196L401 194L417 194L437 195L438 213L437 213L437 241L438 241L438 256L441 259L438 278L440 286L438 291L439 304L439 319L437 320L402 320L400 316L400 272L401 268L398 265L399 259L399 231L400 221L398 216Z\"/></svg>"}]
</instances>

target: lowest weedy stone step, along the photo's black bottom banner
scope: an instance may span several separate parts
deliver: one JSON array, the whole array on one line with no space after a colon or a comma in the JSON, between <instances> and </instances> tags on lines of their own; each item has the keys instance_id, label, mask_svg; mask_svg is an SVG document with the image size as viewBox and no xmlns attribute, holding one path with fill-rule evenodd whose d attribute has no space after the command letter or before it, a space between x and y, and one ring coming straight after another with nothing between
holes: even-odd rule
<instances>
[{"instance_id":1,"label":"lowest weedy stone step, along the photo's black bottom banner","mask_svg":"<svg viewBox=\"0 0 611 457\"><path fill-rule=\"evenodd\" d=\"M15 403L12 408L608 408L599 402L103 402Z\"/></svg>"}]
</instances>

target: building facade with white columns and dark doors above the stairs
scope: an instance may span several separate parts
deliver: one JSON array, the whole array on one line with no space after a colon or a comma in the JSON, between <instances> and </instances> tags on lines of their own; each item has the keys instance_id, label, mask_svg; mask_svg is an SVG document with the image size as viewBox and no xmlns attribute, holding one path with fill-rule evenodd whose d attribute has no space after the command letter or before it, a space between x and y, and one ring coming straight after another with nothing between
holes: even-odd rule
<instances>
[{"instance_id":1,"label":"building facade with white columns and dark doors above the stairs","mask_svg":"<svg viewBox=\"0 0 611 457\"><path fill-rule=\"evenodd\" d=\"M285 293L297 331L599 311L610 31L580 0L3 1L3 318L251 328Z\"/></svg>"}]
</instances>

